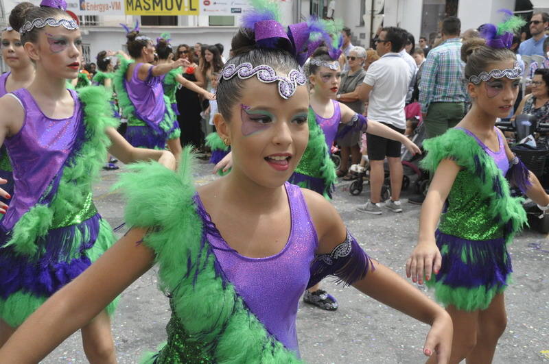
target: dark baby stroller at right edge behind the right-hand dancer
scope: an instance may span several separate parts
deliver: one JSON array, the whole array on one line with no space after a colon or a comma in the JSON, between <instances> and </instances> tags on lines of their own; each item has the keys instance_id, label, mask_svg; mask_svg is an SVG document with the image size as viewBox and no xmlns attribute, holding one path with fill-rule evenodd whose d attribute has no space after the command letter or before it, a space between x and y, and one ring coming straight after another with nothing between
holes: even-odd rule
<instances>
[{"instance_id":1,"label":"dark baby stroller at right edge behind the right-hand dancer","mask_svg":"<svg viewBox=\"0 0 549 364\"><path fill-rule=\"evenodd\" d=\"M517 115L515 121L498 121L495 126L504 132L513 132L514 142L511 144L511 151L522 160L524 165L536 175L544 189L548 189L548 171L546 169L546 159L549 154L549 148L546 136L533 137L537 133L547 134L549 132L549 123L538 123L537 119L531 114ZM530 136L535 141L535 146L528 143L521 143ZM513 188L513 195L522 195L519 189ZM528 215L528 223L535 230L547 234L549 232L549 215L541 213L537 204L531 199L526 198L522 204Z\"/></svg>"}]
</instances>

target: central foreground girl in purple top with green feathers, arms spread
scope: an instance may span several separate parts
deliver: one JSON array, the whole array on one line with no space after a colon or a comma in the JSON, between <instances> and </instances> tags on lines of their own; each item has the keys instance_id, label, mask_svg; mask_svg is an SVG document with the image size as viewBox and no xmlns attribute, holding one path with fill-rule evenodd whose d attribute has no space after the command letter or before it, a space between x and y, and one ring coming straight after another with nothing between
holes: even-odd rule
<instances>
[{"instance_id":1,"label":"central foreground girl in purple top with green feathers, arms spread","mask_svg":"<svg viewBox=\"0 0 549 364\"><path fill-rule=\"evenodd\" d=\"M264 29L282 28L266 22ZM156 262L172 319L167 343L145 363L300 363L299 297L328 274L432 324L423 352L436 350L445 363L452 333L445 311L366 256L323 196L286 182L309 140L309 96L296 56L273 44L261 47L249 27L233 39L214 119L233 147L231 173L194 192L186 149L178 173L143 163L124 176L135 228L25 322L0 360L39 361ZM266 72L246 77L231 66ZM283 94L288 74L299 81ZM96 293L92 300L84 287ZM77 307L79 315L62 319Z\"/></svg>"}]
</instances>

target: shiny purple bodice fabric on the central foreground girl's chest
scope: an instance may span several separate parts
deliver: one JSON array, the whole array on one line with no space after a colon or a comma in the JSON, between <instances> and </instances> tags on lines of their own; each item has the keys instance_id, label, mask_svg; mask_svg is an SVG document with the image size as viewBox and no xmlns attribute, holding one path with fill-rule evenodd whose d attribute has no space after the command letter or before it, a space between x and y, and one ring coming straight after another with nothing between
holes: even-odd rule
<instances>
[{"instance_id":1,"label":"shiny purple bodice fabric on the central foreground girl's chest","mask_svg":"<svg viewBox=\"0 0 549 364\"><path fill-rule=\"evenodd\" d=\"M285 348L299 355L297 306L309 282L318 238L299 187L286 182L285 189L292 223L288 243L278 254L249 258L233 250L215 226L206 234L224 275L250 311ZM198 194L194 198L205 226L212 226Z\"/></svg>"}]
</instances>

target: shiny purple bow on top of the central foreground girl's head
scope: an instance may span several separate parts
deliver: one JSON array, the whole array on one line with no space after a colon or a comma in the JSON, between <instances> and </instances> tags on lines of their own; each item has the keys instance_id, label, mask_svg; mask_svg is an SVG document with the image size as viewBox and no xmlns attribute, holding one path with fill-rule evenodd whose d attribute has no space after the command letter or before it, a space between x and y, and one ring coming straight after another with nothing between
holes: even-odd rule
<instances>
[{"instance_id":1,"label":"shiny purple bow on top of the central foreground girl's head","mask_svg":"<svg viewBox=\"0 0 549 364\"><path fill-rule=\"evenodd\" d=\"M257 21L254 24L255 42L259 47L281 47L292 53L300 66L320 45L322 40L314 43L309 41L309 27L306 22L288 26L288 31L274 20Z\"/></svg>"}]
</instances>

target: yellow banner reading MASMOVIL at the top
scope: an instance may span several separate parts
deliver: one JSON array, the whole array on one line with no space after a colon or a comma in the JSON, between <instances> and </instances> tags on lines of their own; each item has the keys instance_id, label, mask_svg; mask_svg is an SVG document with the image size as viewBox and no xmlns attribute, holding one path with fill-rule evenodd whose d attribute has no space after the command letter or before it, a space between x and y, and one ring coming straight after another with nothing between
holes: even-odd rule
<instances>
[{"instance_id":1,"label":"yellow banner reading MASMOVIL at the top","mask_svg":"<svg viewBox=\"0 0 549 364\"><path fill-rule=\"evenodd\" d=\"M126 15L198 15L199 0L125 0Z\"/></svg>"}]
</instances>

